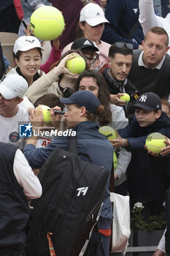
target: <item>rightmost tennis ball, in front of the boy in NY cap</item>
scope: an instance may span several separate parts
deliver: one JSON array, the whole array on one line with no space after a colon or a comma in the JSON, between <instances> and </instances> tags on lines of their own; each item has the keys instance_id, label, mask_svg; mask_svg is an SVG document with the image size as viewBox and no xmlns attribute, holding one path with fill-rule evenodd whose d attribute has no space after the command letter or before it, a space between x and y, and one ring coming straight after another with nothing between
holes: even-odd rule
<instances>
[{"instance_id":1,"label":"rightmost tennis ball, in front of the boy in NY cap","mask_svg":"<svg viewBox=\"0 0 170 256\"><path fill-rule=\"evenodd\" d=\"M146 139L146 147L148 151L152 151L153 153L160 153L162 148L166 147L165 136L159 132L153 132L147 136Z\"/></svg>"}]
</instances>

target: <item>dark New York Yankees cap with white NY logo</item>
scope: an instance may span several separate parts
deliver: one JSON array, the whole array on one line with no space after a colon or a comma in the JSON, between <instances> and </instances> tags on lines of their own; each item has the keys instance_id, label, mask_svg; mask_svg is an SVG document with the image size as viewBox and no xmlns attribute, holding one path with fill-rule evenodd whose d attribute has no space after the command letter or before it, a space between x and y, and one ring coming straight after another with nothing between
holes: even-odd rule
<instances>
[{"instance_id":1,"label":"dark New York Yankees cap with white NY logo","mask_svg":"<svg viewBox=\"0 0 170 256\"><path fill-rule=\"evenodd\" d=\"M147 111L161 110L161 99L157 94L154 94L153 92L146 92L141 94L136 99L136 103L132 106L132 108L142 108Z\"/></svg>"}]
</instances>

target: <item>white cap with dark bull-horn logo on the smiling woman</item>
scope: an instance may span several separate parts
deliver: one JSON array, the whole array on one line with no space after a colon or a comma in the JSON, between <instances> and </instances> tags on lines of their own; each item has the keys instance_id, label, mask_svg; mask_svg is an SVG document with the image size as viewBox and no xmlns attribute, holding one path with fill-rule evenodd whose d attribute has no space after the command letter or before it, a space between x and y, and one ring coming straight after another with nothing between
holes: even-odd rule
<instances>
[{"instance_id":1,"label":"white cap with dark bull-horn logo on the smiling woman","mask_svg":"<svg viewBox=\"0 0 170 256\"><path fill-rule=\"evenodd\" d=\"M23 36L18 37L15 41L13 52L15 55L18 53L18 50L26 51L31 50L33 48L40 48L41 50L45 50L42 48L41 43L39 42L39 39L33 36Z\"/></svg>"}]
</instances>

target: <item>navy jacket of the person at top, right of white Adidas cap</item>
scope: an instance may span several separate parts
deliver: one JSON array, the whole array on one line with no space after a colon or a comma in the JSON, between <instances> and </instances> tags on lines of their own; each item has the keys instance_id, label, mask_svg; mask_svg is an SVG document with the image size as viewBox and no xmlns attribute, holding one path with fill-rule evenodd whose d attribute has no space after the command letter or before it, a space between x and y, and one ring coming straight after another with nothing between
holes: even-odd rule
<instances>
[{"instance_id":1,"label":"navy jacket of the person at top, right of white Adidas cap","mask_svg":"<svg viewBox=\"0 0 170 256\"><path fill-rule=\"evenodd\" d=\"M142 45L144 34L139 24L130 39L128 33L139 19L139 0L108 0L105 17L109 23L105 23L101 39L109 44L114 42L130 42L134 48Z\"/></svg>"}]
</instances>

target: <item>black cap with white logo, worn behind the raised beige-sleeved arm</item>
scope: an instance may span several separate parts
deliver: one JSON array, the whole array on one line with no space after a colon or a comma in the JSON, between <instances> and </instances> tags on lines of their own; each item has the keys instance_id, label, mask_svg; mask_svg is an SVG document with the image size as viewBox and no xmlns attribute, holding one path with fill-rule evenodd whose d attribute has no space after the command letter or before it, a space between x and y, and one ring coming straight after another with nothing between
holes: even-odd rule
<instances>
[{"instance_id":1,"label":"black cap with white logo, worn behind the raised beige-sleeved arm","mask_svg":"<svg viewBox=\"0 0 170 256\"><path fill-rule=\"evenodd\" d=\"M98 48L94 43L87 39L87 38L77 38L74 43L72 44L71 49L77 50L77 49L84 49L84 48L91 48L91 50L98 51Z\"/></svg>"}]
</instances>

